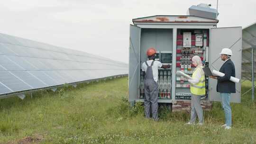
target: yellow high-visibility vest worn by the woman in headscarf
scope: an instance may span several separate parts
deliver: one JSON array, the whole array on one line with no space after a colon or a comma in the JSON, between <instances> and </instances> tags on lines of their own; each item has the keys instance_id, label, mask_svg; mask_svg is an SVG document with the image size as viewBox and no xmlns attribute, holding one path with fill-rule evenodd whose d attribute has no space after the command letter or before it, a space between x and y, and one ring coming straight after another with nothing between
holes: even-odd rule
<instances>
[{"instance_id":1,"label":"yellow high-visibility vest worn by the woman in headscarf","mask_svg":"<svg viewBox=\"0 0 256 144\"><path fill-rule=\"evenodd\" d=\"M192 74L192 78L195 78L195 75L198 71L201 71L200 68L196 68L196 70ZM204 74L201 75L201 79L197 84L190 84L190 91L195 95L205 95L205 77Z\"/></svg>"}]
</instances>

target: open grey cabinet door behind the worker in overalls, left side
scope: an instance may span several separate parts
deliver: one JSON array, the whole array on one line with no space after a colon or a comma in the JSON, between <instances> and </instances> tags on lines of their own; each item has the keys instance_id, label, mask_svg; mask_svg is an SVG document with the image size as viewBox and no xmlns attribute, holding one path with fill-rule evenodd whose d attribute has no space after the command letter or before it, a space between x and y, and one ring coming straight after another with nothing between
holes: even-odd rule
<instances>
[{"instance_id":1,"label":"open grey cabinet door behind the worker in overalls, left side","mask_svg":"<svg viewBox=\"0 0 256 144\"><path fill-rule=\"evenodd\" d=\"M139 95L139 52L140 52L140 27L130 25L129 44L129 102L134 102Z\"/></svg>"}]
</instances>

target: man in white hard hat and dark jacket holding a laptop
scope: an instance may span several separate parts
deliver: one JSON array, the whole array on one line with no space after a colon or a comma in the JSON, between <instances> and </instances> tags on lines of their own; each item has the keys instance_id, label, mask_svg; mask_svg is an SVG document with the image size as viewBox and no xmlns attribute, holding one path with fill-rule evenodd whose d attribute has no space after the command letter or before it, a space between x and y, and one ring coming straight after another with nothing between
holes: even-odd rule
<instances>
[{"instance_id":1,"label":"man in white hard hat and dark jacket holding a laptop","mask_svg":"<svg viewBox=\"0 0 256 144\"><path fill-rule=\"evenodd\" d=\"M223 48L220 53L220 58L224 61L223 65L219 69L219 72L225 73L222 77L210 76L213 79L217 79L217 92L220 93L221 104L225 112L225 124L222 125L225 129L231 129L231 107L230 107L230 95L236 93L235 82L230 81L230 77L236 77L235 65L231 61L230 57L232 51L229 48Z\"/></svg>"}]
</instances>

